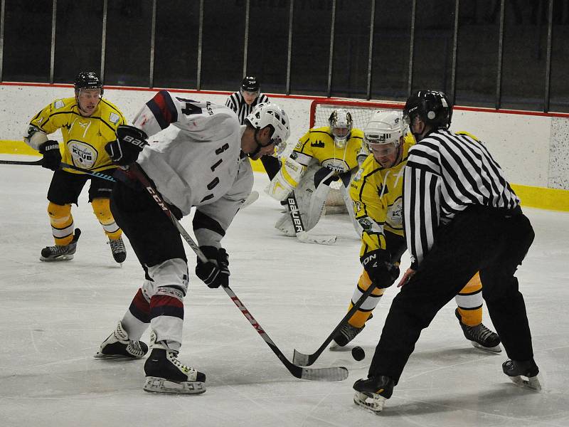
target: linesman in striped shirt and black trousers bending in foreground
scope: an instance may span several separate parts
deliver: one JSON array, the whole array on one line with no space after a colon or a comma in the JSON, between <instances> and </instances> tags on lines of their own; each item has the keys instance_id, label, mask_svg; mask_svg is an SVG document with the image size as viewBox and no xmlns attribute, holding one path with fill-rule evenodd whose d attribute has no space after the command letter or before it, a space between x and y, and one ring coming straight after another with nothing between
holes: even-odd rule
<instances>
[{"instance_id":1,"label":"linesman in striped shirt and black trousers bending in foreground","mask_svg":"<svg viewBox=\"0 0 569 427\"><path fill-rule=\"evenodd\" d=\"M403 288L393 299L368 378L353 388L369 409L381 411L421 330L479 271L482 295L509 357L504 374L541 389L514 277L534 237L518 197L484 144L448 130L452 106L445 94L420 90L408 98L403 114L417 140L403 181L412 264L398 285Z\"/></svg>"}]
</instances>

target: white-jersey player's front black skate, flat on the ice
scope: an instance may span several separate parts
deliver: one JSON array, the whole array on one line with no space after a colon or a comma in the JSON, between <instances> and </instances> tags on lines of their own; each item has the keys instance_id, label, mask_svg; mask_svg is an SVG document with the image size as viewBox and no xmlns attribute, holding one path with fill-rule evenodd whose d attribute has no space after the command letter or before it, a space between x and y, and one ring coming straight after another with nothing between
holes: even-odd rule
<instances>
[{"instance_id":1,"label":"white-jersey player's front black skate, flat on the ice","mask_svg":"<svg viewBox=\"0 0 569 427\"><path fill-rule=\"evenodd\" d=\"M206 391L206 374L186 367L175 352L165 344L157 342L144 363L147 376L144 390L154 393L201 394Z\"/></svg>"}]
</instances>

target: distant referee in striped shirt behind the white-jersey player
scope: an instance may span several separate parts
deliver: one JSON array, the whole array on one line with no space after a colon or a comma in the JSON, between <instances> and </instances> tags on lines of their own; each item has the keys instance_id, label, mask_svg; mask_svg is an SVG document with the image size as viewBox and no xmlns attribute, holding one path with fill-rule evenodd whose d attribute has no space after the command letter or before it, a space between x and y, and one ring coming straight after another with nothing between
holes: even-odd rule
<instances>
[{"instance_id":1,"label":"distant referee in striped shirt behind the white-jersey player","mask_svg":"<svg viewBox=\"0 0 569 427\"><path fill-rule=\"evenodd\" d=\"M239 92L234 92L225 101L225 105L230 107L231 110L235 111L239 122L241 125L245 125L245 117L252 112L255 105L261 102L270 102L267 95L260 93L259 83L257 78L253 75L248 75L241 82L241 88ZM272 179L280 169L279 161L273 156L262 156L261 163L265 167L265 171Z\"/></svg>"}]
</instances>

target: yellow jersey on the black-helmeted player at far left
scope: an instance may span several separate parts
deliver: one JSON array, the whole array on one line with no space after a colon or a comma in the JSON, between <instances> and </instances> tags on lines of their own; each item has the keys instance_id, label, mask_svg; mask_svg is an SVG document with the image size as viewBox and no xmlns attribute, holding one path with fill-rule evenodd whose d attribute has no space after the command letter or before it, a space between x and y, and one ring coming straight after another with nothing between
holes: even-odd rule
<instances>
[{"instance_id":1,"label":"yellow jersey on the black-helmeted player at far left","mask_svg":"<svg viewBox=\"0 0 569 427\"><path fill-rule=\"evenodd\" d=\"M47 135L61 130L63 163L97 170L116 167L105 151L105 145L117 139L117 127L125 124L122 112L104 98L101 98L90 117L83 117L75 97L51 102L30 121L31 126L46 132ZM63 169L65 172L83 174L75 169Z\"/></svg>"}]
</instances>

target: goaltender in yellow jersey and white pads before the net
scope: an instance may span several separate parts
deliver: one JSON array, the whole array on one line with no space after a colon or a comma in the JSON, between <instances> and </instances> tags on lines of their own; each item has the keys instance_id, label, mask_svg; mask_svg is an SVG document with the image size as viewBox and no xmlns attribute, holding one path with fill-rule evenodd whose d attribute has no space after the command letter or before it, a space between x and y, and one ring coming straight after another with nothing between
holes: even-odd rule
<instances>
[{"instance_id":1,"label":"goaltender in yellow jersey and white pads before the net","mask_svg":"<svg viewBox=\"0 0 569 427\"><path fill-rule=\"evenodd\" d=\"M334 110L329 117L329 126L311 129L299 139L265 192L283 201L294 190L304 228L308 231L318 223L330 190L341 189L359 236L361 229L353 219L347 187L352 173L358 168L362 139L361 130L352 129L350 112ZM275 228L286 236L295 235L289 214L284 214L275 223Z\"/></svg>"}]
</instances>

